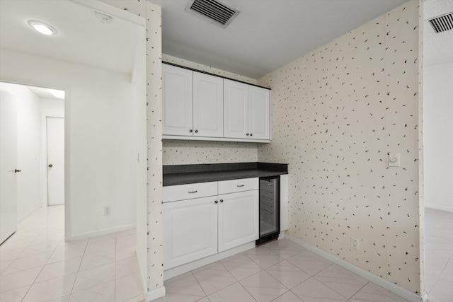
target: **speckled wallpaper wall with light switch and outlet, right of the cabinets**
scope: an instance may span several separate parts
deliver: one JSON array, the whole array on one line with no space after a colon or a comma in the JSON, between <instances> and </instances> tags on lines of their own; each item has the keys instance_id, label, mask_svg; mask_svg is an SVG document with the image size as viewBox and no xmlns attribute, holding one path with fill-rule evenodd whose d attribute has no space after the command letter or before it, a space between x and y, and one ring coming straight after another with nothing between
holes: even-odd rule
<instances>
[{"instance_id":1,"label":"speckled wallpaper wall with light switch and outlet, right of the cabinets","mask_svg":"<svg viewBox=\"0 0 453 302\"><path fill-rule=\"evenodd\" d=\"M289 233L413 293L418 17L408 1L258 81L273 90L273 141L258 161L289 163ZM389 152L400 167L389 168Z\"/></svg>"}]
</instances>

